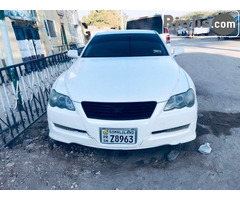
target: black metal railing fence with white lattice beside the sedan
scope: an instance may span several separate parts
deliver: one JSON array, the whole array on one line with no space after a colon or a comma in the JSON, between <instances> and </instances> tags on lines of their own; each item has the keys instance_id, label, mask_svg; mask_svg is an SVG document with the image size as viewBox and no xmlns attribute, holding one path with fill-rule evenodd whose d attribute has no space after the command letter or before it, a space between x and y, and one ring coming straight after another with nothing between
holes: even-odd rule
<instances>
[{"instance_id":1,"label":"black metal railing fence with white lattice beside the sedan","mask_svg":"<svg viewBox=\"0 0 240 200\"><path fill-rule=\"evenodd\" d=\"M65 52L0 69L0 148L46 113L53 82L72 63Z\"/></svg>"}]
</instances>

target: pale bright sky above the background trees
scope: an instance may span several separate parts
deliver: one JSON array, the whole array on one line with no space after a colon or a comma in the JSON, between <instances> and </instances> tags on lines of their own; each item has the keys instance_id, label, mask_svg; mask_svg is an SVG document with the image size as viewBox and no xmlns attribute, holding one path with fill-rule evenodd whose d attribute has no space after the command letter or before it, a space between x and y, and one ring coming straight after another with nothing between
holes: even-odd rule
<instances>
[{"instance_id":1,"label":"pale bright sky above the background trees","mask_svg":"<svg viewBox=\"0 0 240 200\"><path fill-rule=\"evenodd\" d=\"M185 15L187 13L192 12L193 10L185 10L185 11L165 11L165 14L172 15L173 17L180 17L182 15ZM78 15L80 20L83 16L87 16L89 14L90 10L78 10ZM123 10L123 12L128 16L128 19L131 18L138 18L143 16L151 16L154 14L161 14L162 10Z\"/></svg>"}]
</instances>

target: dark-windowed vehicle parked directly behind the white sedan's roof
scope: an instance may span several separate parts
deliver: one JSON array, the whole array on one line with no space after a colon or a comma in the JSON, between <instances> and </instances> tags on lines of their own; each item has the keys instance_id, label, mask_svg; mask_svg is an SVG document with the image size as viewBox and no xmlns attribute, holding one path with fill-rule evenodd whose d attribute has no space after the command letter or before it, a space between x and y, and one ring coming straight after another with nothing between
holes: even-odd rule
<instances>
[{"instance_id":1,"label":"dark-windowed vehicle parked directly behind the white sedan's roof","mask_svg":"<svg viewBox=\"0 0 240 200\"><path fill-rule=\"evenodd\" d=\"M127 21L126 29L154 30L159 33L164 42L170 44L168 28L163 27L162 15L145 16Z\"/></svg>"}]
</instances>

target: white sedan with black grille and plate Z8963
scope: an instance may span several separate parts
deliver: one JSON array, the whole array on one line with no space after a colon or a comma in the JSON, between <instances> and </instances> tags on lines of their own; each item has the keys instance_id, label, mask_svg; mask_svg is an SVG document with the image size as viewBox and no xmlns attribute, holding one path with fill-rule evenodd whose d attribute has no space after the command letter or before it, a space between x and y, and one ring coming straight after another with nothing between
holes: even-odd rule
<instances>
[{"instance_id":1,"label":"white sedan with black grille and plate Z8963","mask_svg":"<svg viewBox=\"0 0 240 200\"><path fill-rule=\"evenodd\" d=\"M155 31L98 33L54 83L50 137L103 149L144 149L196 138L193 81Z\"/></svg>"}]
</instances>

